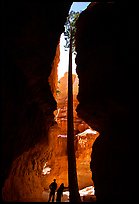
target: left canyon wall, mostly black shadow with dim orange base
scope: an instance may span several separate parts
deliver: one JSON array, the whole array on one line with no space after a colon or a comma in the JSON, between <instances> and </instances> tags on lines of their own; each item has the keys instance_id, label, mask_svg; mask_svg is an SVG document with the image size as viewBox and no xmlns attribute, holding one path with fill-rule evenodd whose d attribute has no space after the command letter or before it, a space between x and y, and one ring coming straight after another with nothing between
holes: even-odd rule
<instances>
[{"instance_id":1,"label":"left canyon wall, mostly black shadow with dim orange base","mask_svg":"<svg viewBox=\"0 0 139 204\"><path fill-rule=\"evenodd\" d=\"M49 146L51 154L55 143L54 134L48 133L51 127L55 128L56 109L48 77L71 3L38 0L2 3L1 188L5 201L39 197L43 147L47 151ZM36 164L39 169L33 170Z\"/></svg>"}]
</instances>

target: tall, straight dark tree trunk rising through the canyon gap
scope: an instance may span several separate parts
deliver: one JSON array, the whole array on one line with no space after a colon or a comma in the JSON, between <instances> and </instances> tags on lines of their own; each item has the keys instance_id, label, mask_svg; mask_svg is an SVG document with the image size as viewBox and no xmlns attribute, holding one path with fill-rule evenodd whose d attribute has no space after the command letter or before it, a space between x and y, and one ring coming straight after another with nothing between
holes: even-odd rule
<instances>
[{"instance_id":1,"label":"tall, straight dark tree trunk rising through the canyon gap","mask_svg":"<svg viewBox=\"0 0 139 204\"><path fill-rule=\"evenodd\" d=\"M69 72L68 72L68 125L67 125L67 151L68 151L68 183L70 202L81 202L74 149L74 125L73 125L73 90L72 90L72 30L69 49Z\"/></svg>"}]
</instances>

